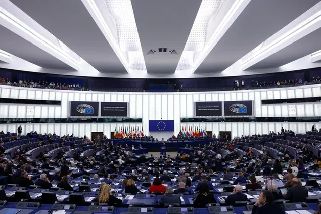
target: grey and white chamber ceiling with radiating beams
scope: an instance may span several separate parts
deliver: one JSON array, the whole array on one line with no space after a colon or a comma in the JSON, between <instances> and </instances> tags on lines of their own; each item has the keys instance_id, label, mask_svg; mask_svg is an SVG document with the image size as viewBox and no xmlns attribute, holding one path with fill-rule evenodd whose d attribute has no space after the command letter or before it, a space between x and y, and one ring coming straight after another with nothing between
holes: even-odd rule
<instances>
[{"instance_id":1,"label":"grey and white chamber ceiling with radiating beams","mask_svg":"<svg viewBox=\"0 0 321 214\"><path fill-rule=\"evenodd\" d=\"M224 10L230 9L237 1L243 4L243 8L240 7L229 25L222 28L217 42L211 44L210 38L227 16ZM197 16L202 14L199 12L201 4L205 3L209 7L211 4L220 7L210 15L207 24L193 26ZM93 4L97 5L101 17L90 9ZM122 11L128 4L132 10ZM57 49L61 49L57 42L61 40L71 50L64 55L76 61L80 57L79 64L70 63L70 59L65 59L57 50L45 47L37 42L37 38L18 29L15 23L2 16L4 10L51 41ZM309 55L321 49L321 15L320 20L316 18L304 31L304 35L292 36L279 48L262 54L248 66L242 66L240 60L255 56L256 53L251 51L262 42L265 42L265 48L318 12L321 13L320 0L2 0L0 50L10 53L11 57L6 60L0 54L0 67L122 78L233 76L319 67L319 59L311 62ZM124 14L135 24L121 22L121 17L115 14ZM108 30L104 30L102 23ZM205 45L192 57L193 68L175 72L192 27L206 29ZM135 30L139 35L138 44ZM159 52L159 48L166 48L166 52L163 49ZM170 53L172 50L177 54ZM297 66L298 61L300 66ZM142 68L142 63L146 70L145 66L137 69Z\"/></svg>"}]
</instances>

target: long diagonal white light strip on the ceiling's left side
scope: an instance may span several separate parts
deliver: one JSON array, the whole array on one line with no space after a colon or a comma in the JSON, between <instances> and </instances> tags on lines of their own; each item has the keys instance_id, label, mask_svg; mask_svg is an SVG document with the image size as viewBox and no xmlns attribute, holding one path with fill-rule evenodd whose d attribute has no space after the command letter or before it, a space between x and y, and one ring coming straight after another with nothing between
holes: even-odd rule
<instances>
[{"instance_id":1,"label":"long diagonal white light strip on the ceiling's left side","mask_svg":"<svg viewBox=\"0 0 321 214\"><path fill-rule=\"evenodd\" d=\"M26 25L24 22L16 18L14 15L9 13L4 8L0 7L0 18L3 18L13 26L17 27L19 30L22 30L27 35L31 36L33 39L36 39L38 42L40 42L43 46L49 48L51 51L55 52L56 54L63 57L65 60L67 60L69 63L73 64L73 68L76 70L79 70L79 59L76 60L72 57L70 57L67 53L62 52L61 48L54 45L51 41L49 41L47 38L30 28L28 25Z\"/></svg>"}]
</instances>

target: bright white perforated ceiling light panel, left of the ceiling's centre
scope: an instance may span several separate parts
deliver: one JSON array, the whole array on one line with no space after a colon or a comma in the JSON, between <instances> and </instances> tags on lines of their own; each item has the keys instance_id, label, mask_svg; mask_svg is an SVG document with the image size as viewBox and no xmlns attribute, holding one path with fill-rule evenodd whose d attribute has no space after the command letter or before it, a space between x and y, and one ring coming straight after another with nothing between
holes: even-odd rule
<instances>
[{"instance_id":1,"label":"bright white perforated ceiling light panel, left of the ceiling's centre","mask_svg":"<svg viewBox=\"0 0 321 214\"><path fill-rule=\"evenodd\" d=\"M130 69L146 71L141 40L130 0L105 0L115 19L120 50L127 52Z\"/></svg>"}]
</instances>

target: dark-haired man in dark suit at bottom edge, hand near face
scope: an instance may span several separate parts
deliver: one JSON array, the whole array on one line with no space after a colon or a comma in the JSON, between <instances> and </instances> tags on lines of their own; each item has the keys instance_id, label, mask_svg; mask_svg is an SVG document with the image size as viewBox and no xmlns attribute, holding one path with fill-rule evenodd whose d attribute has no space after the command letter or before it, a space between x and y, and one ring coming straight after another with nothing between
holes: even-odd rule
<instances>
[{"instance_id":1,"label":"dark-haired man in dark suit at bottom edge, hand near face","mask_svg":"<svg viewBox=\"0 0 321 214\"><path fill-rule=\"evenodd\" d=\"M259 199L255 202L252 214L285 214L285 210L281 205L273 203L274 196L268 190L263 190L259 196ZM262 205L258 207L258 205Z\"/></svg>"}]
</instances>

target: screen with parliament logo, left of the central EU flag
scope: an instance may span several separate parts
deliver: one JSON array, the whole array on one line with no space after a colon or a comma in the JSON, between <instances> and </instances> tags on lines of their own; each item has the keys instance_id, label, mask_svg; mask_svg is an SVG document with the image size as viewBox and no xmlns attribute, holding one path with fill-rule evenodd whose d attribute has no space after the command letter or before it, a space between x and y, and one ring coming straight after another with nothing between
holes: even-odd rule
<instances>
[{"instance_id":1,"label":"screen with parliament logo, left of the central EU flag","mask_svg":"<svg viewBox=\"0 0 321 214\"><path fill-rule=\"evenodd\" d=\"M99 102L70 101L71 117L98 117Z\"/></svg>"}]
</instances>

